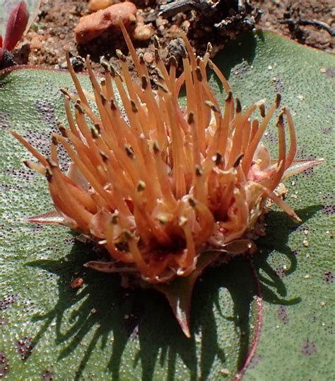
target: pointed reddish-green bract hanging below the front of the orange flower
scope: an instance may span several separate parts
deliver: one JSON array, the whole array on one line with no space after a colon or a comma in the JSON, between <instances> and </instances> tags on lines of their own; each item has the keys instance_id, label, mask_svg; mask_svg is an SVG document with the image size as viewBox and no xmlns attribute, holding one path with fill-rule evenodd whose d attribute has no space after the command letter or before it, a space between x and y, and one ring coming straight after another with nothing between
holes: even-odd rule
<instances>
[{"instance_id":1,"label":"pointed reddish-green bract hanging below the front of the orange flower","mask_svg":"<svg viewBox=\"0 0 335 381\"><path fill-rule=\"evenodd\" d=\"M163 292L165 297L167 297L173 313L187 337L191 337L189 332L189 314L194 284L204 269L215 261L219 255L220 253L218 252L206 251L199 256L196 269L187 277L175 278L171 283L153 285L153 288Z\"/></svg>"}]
</instances>

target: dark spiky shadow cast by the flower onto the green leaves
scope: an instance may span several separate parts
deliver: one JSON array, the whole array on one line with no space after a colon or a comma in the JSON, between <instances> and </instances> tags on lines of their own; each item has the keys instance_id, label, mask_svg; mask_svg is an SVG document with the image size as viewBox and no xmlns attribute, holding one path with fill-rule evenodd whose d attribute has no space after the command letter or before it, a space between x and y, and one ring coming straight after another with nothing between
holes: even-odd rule
<instances>
[{"instance_id":1,"label":"dark spiky shadow cast by the flower onto the green leaves","mask_svg":"<svg viewBox=\"0 0 335 381\"><path fill-rule=\"evenodd\" d=\"M310 207L300 210L299 215L305 222L319 209ZM262 254L254 260L264 299L293 305L300 297L286 300L287 285L268 259L272 251L279 251L291 261L287 273L295 270L296 259L287 245L295 225L283 212L270 212L267 219L271 227L268 235L257 242ZM47 329L54 327L57 346L61 348L58 360L76 351L75 380L83 377L98 346L110 353L105 371L112 380L120 379L124 363L134 369L134 374L141 373L142 380L153 380L158 375L163 378L163 374L168 381L178 380L180 360L190 380L207 380L213 372L219 377L220 370L231 363L235 364L230 368L232 372L242 368L250 346L255 320L253 301L257 295L247 258L209 268L198 280L192 300L191 339L182 334L163 295L154 290L124 289L118 275L86 271L83 263L93 258L96 254L92 248L88 250L88 246L76 242L66 261L28 263L59 276L57 305L47 314L34 317L42 326L33 341L37 345ZM83 278L85 287L70 288L74 274ZM228 341L224 337L229 337Z\"/></svg>"}]
</instances>

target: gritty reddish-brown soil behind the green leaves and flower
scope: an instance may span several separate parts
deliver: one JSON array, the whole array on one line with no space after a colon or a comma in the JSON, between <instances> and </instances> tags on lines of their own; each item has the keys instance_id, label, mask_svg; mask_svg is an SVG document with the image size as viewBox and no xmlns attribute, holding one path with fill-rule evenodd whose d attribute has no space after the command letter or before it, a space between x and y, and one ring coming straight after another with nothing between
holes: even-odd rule
<instances>
[{"instance_id":1,"label":"gritty reddish-brown soil behind the green leaves and flower","mask_svg":"<svg viewBox=\"0 0 335 381\"><path fill-rule=\"evenodd\" d=\"M324 28L317 28L315 25L300 25L306 20L326 23L334 33L335 6L333 0L249 1L252 6L242 9L242 11L236 8L237 1L212 1L213 4L218 1L223 2L219 15L218 13L209 14L207 11L201 14L198 11L190 10L166 18L158 16L158 10L159 6L167 4L167 1L134 0L133 2L139 9L138 19L147 25L151 25L155 34L160 38L163 58L171 54L178 55L177 38L181 30L187 33L199 54L206 50L206 42L210 36L213 54L215 54L223 48L228 40L235 38L238 33L244 30L254 28L254 26L263 30L273 30L302 44L332 54L335 53L334 35L331 36L329 31ZM263 13L258 21L259 9ZM105 55L113 64L117 64L115 48L124 50L123 39L119 38L120 36L117 34L105 33L87 45L76 45L74 28L78 24L79 18L88 13L87 0L42 0L37 20L14 52L16 62L65 69L63 48L66 46L69 47L70 52L75 57L86 57L87 54L90 54L93 62L99 62L99 57ZM218 20L218 17L221 17L221 20L222 18L225 21L228 20L221 28L218 28L218 21L221 21ZM214 23L216 23L215 27L213 26ZM134 44L138 53L146 52L145 59L150 66L153 63L153 39L135 40ZM83 68L80 58L74 59L74 63L78 71ZM95 68L98 69L98 66L96 63Z\"/></svg>"}]
</instances>

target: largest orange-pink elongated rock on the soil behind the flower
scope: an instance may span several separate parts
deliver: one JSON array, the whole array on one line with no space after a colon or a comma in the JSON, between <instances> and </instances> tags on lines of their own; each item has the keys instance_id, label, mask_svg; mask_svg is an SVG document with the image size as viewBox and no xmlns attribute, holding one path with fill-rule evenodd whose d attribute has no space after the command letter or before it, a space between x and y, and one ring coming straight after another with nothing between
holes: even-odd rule
<instances>
[{"instance_id":1,"label":"largest orange-pink elongated rock on the soil behind the flower","mask_svg":"<svg viewBox=\"0 0 335 381\"><path fill-rule=\"evenodd\" d=\"M119 21L122 21L127 28L135 20L136 11L135 4L124 1L124 3L114 4L106 9L81 17L74 29L76 42L86 44L104 33L105 30L111 32L119 30Z\"/></svg>"}]
</instances>

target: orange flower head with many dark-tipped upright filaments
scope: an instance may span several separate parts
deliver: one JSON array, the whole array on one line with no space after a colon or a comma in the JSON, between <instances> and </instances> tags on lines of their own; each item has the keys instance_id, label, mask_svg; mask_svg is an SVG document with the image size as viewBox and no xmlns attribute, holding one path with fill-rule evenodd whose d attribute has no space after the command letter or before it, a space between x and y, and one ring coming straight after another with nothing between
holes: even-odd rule
<instances>
[{"instance_id":1,"label":"orange flower head with many dark-tipped upright filaments","mask_svg":"<svg viewBox=\"0 0 335 381\"><path fill-rule=\"evenodd\" d=\"M105 246L111 258L109 263L93 261L87 266L130 272L148 283L189 275L204 251L231 255L254 251L244 237L264 212L266 198L300 221L274 190L283 178L319 161L293 163L295 129L285 107L277 121L276 161L261 143L281 97L276 96L267 112L264 101L243 111L211 62L210 45L203 58L195 57L185 37L184 70L178 78L175 57L167 70L155 40L158 79L154 90L143 57L137 57L123 25L122 30L141 86L131 78L120 51L122 75L102 61L102 81L87 59L97 115L67 57L78 96L61 89L69 127L59 123L60 134L52 135L51 157L42 157L12 132L40 161L25 164L47 177L57 210L57 216L29 220L58 222L85 234ZM208 84L208 66L227 93L223 107ZM178 101L182 86L187 94L185 108ZM252 116L257 109L260 120ZM283 118L288 124L288 148ZM59 166L57 144L71 158L68 174Z\"/></svg>"}]
</instances>

